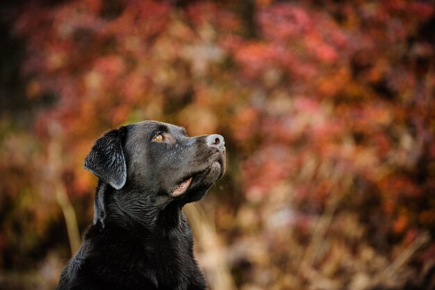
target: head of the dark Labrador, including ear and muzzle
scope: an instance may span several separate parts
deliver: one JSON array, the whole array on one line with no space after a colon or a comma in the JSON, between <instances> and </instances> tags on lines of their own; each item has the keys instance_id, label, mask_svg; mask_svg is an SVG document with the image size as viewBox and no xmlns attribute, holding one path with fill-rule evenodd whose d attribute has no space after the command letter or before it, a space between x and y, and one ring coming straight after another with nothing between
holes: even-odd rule
<instances>
[{"instance_id":1,"label":"head of the dark Labrador, including ear and muzzle","mask_svg":"<svg viewBox=\"0 0 435 290\"><path fill-rule=\"evenodd\" d=\"M192 202L224 174L224 138L188 137L172 124L138 122L107 131L93 145L84 167L116 190Z\"/></svg>"}]
</instances>

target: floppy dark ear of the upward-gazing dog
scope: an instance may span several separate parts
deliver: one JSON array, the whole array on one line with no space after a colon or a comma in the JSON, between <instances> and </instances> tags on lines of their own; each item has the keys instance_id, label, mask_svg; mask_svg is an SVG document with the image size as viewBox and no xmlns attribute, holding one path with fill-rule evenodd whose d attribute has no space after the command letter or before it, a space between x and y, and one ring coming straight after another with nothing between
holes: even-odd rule
<instances>
[{"instance_id":1,"label":"floppy dark ear of the upward-gazing dog","mask_svg":"<svg viewBox=\"0 0 435 290\"><path fill-rule=\"evenodd\" d=\"M99 179L108 182L115 189L124 186L127 178L127 169L122 140L125 137L126 127L107 131L92 146L85 158L83 167Z\"/></svg>"}]
</instances>

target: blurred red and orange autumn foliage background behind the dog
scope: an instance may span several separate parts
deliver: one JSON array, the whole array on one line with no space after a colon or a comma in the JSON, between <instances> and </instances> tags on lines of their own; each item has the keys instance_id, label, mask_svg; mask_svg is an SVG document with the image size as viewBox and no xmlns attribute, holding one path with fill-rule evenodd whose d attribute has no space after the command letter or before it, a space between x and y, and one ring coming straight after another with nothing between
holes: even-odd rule
<instances>
[{"instance_id":1,"label":"blurred red and orange autumn foliage background behind the dog","mask_svg":"<svg viewBox=\"0 0 435 290\"><path fill-rule=\"evenodd\" d=\"M15 1L0 35L0 289L56 287L85 155L140 120L225 138L211 290L435 289L433 1Z\"/></svg>"}]
</instances>

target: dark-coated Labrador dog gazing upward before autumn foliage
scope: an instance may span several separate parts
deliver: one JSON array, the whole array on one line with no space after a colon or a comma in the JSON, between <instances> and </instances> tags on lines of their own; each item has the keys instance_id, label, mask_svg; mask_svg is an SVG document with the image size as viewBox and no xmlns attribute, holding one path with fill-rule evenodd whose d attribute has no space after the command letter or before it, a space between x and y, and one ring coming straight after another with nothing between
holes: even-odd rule
<instances>
[{"instance_id":1,"label":"dark-coated Labrador dog gazing upward before autumn foliage","mask_svg":"<svg viewBox=\"0 0 435 290\"><path fill-rule=\"evenodd\" d=\"M129 124L101 136L84 166L99 177L94 221L57 289L206 289L181 209L222 177L224 138Z\"/></svg>"}]
</instances>

